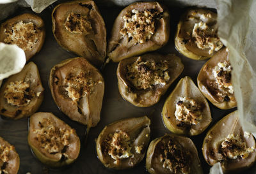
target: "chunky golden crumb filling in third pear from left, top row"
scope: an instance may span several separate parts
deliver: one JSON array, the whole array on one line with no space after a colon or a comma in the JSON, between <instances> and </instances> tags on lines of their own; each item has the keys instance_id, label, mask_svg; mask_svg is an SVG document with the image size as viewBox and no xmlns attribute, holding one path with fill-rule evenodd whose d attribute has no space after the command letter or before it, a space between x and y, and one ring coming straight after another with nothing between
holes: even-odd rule
<instances>
[{"instance_id":1,"label":"chunky golden crumb filling in third pear from left, top row","mask_svg":"<svg viewBox=\"0 0 256 174\"><path fill-rule=\"evenodd\" d=\"M135 45L145 43L155 33L156 20L159 18L160 13L157 10L138 11L134 9L124 15L124 27L120 30L120 34L133 40Z\"/></svg>"}]
</instances>

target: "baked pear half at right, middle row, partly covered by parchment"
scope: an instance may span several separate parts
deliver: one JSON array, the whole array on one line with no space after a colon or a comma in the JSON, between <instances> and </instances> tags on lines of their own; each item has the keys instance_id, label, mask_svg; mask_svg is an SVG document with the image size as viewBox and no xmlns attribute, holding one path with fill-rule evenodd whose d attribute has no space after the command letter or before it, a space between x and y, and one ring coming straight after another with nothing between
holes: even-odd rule
<instances>
[{"instance_id":1,"label":"baked pear half at right, middle row, partly covered by parchment","mask_svg":"<svg viewBox=\"0 0 256 174\"><path fill-rule=\"evenodd\" d=\"M237 106L229 60L228 49L223 48L204 64L197 76L197 85L202 94L222 110Z\"/></svg>"}]
</instances>

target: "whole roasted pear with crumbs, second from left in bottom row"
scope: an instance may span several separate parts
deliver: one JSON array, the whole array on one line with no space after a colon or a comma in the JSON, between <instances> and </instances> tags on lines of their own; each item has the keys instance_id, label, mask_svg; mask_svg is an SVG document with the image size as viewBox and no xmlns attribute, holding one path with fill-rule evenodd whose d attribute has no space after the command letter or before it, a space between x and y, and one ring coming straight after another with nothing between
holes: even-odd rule
<instances>
[{"instance_id":1,"label":"whole roasted pear with crumbs, second from left in bottom row","mask_svg":"<svg viewBox=\"0 0 256 174\"><path fill-rule=\"evenodd\" d=\"M30 117L28 144L42 163L53 168L73 163L80 152L76 130L49 112Z\"/></svg>"}]
</instances>

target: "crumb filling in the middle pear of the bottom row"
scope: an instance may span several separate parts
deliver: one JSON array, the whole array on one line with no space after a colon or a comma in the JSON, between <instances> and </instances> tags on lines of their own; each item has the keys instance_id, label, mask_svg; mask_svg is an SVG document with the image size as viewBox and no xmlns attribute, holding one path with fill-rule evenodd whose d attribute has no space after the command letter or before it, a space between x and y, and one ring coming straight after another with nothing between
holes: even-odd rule
<instances>
[{"instance_id":1,"label":"crumb filling in the middle pear of the bottom row","mask_svg":"<svg viewBox=\"0 0 256 174\"><path fill-rule=\"evenodd\" d=\"M124 131L109 134L104 140L104 152L111 156L115 161L131 157L131 138Z\"/></svg>"}]
</instances>

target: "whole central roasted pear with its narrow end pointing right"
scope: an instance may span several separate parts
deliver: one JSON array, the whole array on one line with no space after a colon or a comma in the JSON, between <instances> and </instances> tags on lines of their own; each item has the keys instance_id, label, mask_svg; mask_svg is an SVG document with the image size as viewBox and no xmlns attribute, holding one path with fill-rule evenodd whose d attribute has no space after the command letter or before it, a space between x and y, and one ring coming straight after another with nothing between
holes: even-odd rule
<instances>
[{"instance_id":1,"label":"whole central roasted pear with its narrow end pointing right","mask_svg":"<svg viewBox=\"0 0 256 174\"><path fill-rule=\"evenodd\" d=\"M139 107L156 104L183 71L179 57L145 54L120 61L117 68L118 89L124 99Z\"/></svg>"}]
</instances>

